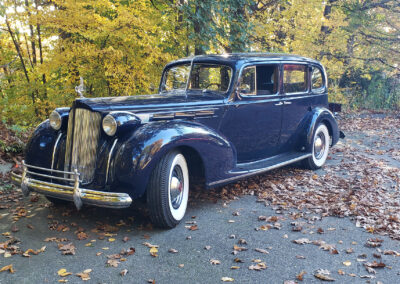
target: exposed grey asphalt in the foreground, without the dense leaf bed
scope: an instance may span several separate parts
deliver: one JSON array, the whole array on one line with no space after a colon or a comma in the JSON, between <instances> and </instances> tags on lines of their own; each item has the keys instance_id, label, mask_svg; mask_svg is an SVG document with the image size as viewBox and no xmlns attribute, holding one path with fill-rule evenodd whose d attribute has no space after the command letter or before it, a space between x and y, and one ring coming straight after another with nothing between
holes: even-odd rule
<instances>
[{"instance_id":1,"label":"exposed grey asphalt in the foreground, without the dense leaf bed","mask_svg":"<svg viewBox=\"0 0 400 284\"><path fill-rule=\"evenodd\" d=\"M334 155L329 164L337 164L341 159ZM400 283L400 256L382 253L400 251L399 241L357 228L350 218L321 220L319 215L308 211L280 212L257 202L255 196L242 196L233 201L218 197L192 198L184 221L172 230L151 228L143 209L84 208L77 212L72 206L49 206L42 197L37 202L24 199L22 205L26 212L15 206L0 211L0 233L5 233L0 235L0 243L15 237L20 240L16 245L22 252L43 246L46 249L31 257L0 254L0 268L13 264L15 269L13 274L0 272L0 283L56 283L60 279L82 283L75 274L85 269L92 269L88 283L147 283L150 279L155 283L223 283L223 277L233 278L234 283L288 280L321 283L314 276L318 269L329 270L335 283ZM25 217L13 222L18 213ZM259 216L274 217L270 219L272 222L266 222L259 221ZM301 231L292 230L291 223L297 217L300 217L296 221L300 222L297 225L302 227ZM267 224L271 228L261 227ZM191 230L195 225L197 230ZM78 231L84 231L88 238L78 240ZM44 241L51 237L68 240ZM293 242L302 238L306 244ZM366 246L370 238L381 239L381 246ZM143 244L146 242L159 246L156 257L150 255L150 248ZM61 254L59 244L68 243L76 247L75 255ZM242 247L243 251L236 247L234 254L234 246ZM117 267L106 264L107 255L130 248L135 253L120 255L122 259L116 259ZM178 252L169 252L171 248ZM353 252L347 253L349 249ZM211 260L219 264L211 264ZM257 261L265 263L267 268L249 269L263 267L257 266ZM373 261L385 263L386 267L376 268L376 274L368 273L364 263ZM239 268L232 269L232 266ZM62 268L72 275L59 276L57 272ZM128 273L121 276L124 269ZM302 271L305 274L301 282L296 280L296 275ZM373 278L361 278L366 275Z\"/></svg>"}]
</instances>

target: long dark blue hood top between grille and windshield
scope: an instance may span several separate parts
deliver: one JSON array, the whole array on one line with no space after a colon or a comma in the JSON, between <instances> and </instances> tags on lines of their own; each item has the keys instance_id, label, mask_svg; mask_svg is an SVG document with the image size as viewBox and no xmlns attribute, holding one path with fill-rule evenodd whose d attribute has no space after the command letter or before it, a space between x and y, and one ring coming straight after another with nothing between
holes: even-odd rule
<instances>
[{"instance_id":1,"label":"long dark blue hood top between grille and windshield","mask_svg":"<svg viewBox=\"0 0 400 284\"><path fill-rule=\"evenodd\" d=\"M141 95L109 98L82 98L77 99L74 107L87 108L92 111L131 111L157 112L177 109L205 108L223 104L224 99L218 94L168 94L168 95Z\"/></svg>"}]
</instances>

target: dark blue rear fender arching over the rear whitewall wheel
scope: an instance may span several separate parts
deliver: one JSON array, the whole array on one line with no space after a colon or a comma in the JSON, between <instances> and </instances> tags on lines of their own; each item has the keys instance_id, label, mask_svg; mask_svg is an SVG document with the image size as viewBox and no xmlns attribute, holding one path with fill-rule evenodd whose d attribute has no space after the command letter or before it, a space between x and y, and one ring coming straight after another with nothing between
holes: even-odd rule
<instances>
[{"instance_id":1,"label":"dark blue rear fender arching over the rear whitewall wheel","mask_svg":"<svg viewBox=\"0 0 400 284\"><path fill-rule=\"evenodd\" d=\"M308 127L305 133L305 144L308 151L311 151L310 147L312 145L313 134L319 123L325 123L328 127L329 134L332 137L332 146L339 141L339 127L334 115L327 108L318 107L310 113Z\"/></svg>"}]
</instances>

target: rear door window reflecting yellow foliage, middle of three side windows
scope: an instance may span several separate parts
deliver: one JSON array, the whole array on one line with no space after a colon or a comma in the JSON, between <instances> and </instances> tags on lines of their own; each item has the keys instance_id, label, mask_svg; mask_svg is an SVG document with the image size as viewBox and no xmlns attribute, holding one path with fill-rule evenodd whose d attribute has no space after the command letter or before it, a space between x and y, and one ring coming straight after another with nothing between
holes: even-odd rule
<instances>
[{"instance_id":1,"label":"rear door window reflecting yellow foliage, middle of three side windows","mask_svg":"<svg viewBox=\"0 0 400 284\"><path fill-rule=\"evenodd\" d=\"M307 91L307 66L285 64L283 66L283 89L285 93L302 93Z\"/></svg>"}]
</instances>

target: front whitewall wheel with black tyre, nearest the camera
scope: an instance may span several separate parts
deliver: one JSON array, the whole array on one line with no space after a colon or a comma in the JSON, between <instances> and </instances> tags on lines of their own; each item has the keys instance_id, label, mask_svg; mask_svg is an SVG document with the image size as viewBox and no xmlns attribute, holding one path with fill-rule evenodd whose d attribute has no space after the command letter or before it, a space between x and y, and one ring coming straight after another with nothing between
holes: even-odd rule
<instances>
[{"instance_id":1,"label":"front whitewall wheel with black tyre, nearest the camera","mask_svg":"<svg viewBox=\"0 0 400 284\"><path fill-rule=\"evenodd\" d=\"M147 186L147 206L153 224L175 227L185 216L188 198L189 170L185 157L171 151L158 162Z\"/></svg>"}]
</instances>

